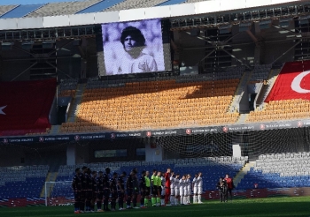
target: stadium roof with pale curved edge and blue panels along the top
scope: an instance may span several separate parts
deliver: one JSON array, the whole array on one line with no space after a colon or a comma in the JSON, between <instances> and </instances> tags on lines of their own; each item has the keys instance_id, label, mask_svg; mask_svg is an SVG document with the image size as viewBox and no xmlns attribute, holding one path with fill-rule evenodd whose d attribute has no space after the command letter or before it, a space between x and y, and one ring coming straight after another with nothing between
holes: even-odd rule
<instances>
[{"instance_id":1,"label":"stadium roof with pale curved edge and blue panels along the top","mask_svg":"<svg viewBox=\"0 0 310 217\"><path fill-rule=\"evenodd\" d=\"M22 4L18 4L23 2ZM37 4L38 2L41 4ZM141 19L201 18L207 14L298 7L307 0L12 0L0 5L0 30L84 26ZM1 0L1 4L8 0ZM29 3L36 4L29 4ZM296 10L295 10L296 11ZM304 11L305 12L305 11ZM307 11L306 11L307 12ZM299 14L299 12L298 12Z\"/></svg>"}]
</instances>

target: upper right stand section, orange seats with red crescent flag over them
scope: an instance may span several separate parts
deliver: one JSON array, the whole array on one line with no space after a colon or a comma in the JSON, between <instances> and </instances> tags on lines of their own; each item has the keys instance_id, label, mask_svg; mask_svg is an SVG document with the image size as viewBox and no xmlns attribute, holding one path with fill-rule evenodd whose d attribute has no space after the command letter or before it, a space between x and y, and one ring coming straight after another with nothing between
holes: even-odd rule
<instances>
[{"instance_id":1,"label":"upper right stand section, orange seats with red crescent flag over them","mask_svg":"<svg viewBox=\"0 0 310 217\"><path fill-rule=\"evenodd\" d=\"M291 120L309 117L309 96L306 94L308 82L304 77L310 62L290 62L283 66L275 80L271 92L267 95L266 103L260 110L251 111L246 119L247 123L263 121ZM263 67L266 71L269 68ZM265 71L265 70L263 70ZM261 72L263 72L261 71ZM301 71L304 71L300 73ZM298 82L298 74L304 75ZM266 77L262 78L266 79ZM294 89L294 90L293 90Z\"/></svg>"}]
</instances>

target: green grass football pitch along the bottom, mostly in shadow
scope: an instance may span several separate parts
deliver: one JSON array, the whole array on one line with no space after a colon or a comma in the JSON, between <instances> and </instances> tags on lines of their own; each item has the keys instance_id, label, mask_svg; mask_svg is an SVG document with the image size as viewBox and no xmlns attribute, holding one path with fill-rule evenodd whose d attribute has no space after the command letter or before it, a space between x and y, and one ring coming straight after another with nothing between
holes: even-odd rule
<instances>
[{"instance_id":1,"label":"green grass football pitch along the bottom, mostly in shadow","mask_svg":"<svg viewBox=\"0 0 310 217\"><path fill-rule=\"evenodd\" d=\"M296 198L248 198L236 199L222 204L209 200L202 205L148 207L105 213L74 214L73 206L32 206L0 208L1 217L68 217L68 216L113 216L113 217L191 217L191 216L310 216L310 197Z\"/></svg>"}]
</instances>

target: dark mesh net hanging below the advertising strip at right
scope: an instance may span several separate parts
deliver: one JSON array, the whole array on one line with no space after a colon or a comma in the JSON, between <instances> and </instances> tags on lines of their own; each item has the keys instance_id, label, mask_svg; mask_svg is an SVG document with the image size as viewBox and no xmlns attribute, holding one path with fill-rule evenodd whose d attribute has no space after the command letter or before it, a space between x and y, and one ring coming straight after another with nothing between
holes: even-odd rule
<instances>
[{"instance_id":1,"label":"dark mesh net hanging below the advertising strip at right","mask_svg":"<svg viewBox=\"0 0 310 217\"><path fill-rule=\"evenodd\" d=\"M309 152L309 141L309 128L292 128L167 136L154 138L150 143L174 154L174 158L232 156L232 146L239 145L242 156L256 160L266 153Z\"/></svg>"}]
</instances>

